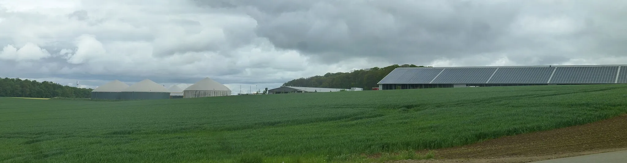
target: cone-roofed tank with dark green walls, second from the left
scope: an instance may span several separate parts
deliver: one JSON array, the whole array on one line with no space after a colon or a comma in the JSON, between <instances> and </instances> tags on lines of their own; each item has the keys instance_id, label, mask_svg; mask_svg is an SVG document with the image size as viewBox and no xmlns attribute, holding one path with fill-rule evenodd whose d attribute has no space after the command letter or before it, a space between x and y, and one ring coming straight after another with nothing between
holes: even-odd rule
<instances>
[{"instance_id":1,"label":"cone-roofed tank with dark green walls, second from the left","mask_svg":"<svg viewBox=\"0 0 627 163\"><path fill-rule=\"evenodd\" d=\"M122 90L122 100L152 100L170 98L170 92L151 80L142 80Z\"/></svg>"}]
</instances>

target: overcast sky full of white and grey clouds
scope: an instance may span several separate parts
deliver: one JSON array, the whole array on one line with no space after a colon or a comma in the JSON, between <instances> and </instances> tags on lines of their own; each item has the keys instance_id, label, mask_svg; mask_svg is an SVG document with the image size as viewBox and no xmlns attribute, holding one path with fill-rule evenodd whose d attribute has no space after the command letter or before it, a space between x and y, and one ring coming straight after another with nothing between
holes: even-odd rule
<instances>
[{"instance_id":1,"label":"overcast sky full of white and grey clouds","mask_svg":"<svg viewBox=\"0 0 627 163\"><path fill-rule=\"evenodd\" d=\"M0 0L0 77L239 93L392 64L625 64L626 29L610 0Z\"/></svg>"}]
</instances>

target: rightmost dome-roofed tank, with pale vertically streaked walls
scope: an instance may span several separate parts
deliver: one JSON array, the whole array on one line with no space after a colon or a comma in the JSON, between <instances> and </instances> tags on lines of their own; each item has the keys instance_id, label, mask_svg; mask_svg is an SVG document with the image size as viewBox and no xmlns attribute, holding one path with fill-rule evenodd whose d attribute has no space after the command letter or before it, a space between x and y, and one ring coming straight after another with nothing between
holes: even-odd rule
<instances>
[{"instance_id":1,"label":"rightmost dome-roofed tank, with pale vertically streaked walls","mask_svg":"<svg viewBox=\"0 0 627 163\"><path fill-rule=\"evenodd\" d=\"M218 81L211 80L211 78L204 78L203 80L194 83L194 85L187 87L183 91L183 98L228 95L231 95L231 90L221 83L218 83Z\"/></svg>"}]
</instances>

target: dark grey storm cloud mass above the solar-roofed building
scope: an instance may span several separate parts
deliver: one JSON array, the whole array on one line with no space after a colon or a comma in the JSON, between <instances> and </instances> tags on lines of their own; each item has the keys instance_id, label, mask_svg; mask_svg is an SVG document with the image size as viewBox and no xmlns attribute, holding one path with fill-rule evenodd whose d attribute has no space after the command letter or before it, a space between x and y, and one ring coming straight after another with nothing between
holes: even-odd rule
<instances>
[{"instance_id":1,"label":"dark grey storm cloud mass above the solar-roofed building","mask_svg":"<svg viewBox=\"0 0 627 163\"><path fill-rule=\"evenodd\" d=\"M361 57L422 63L438 58L463 58L508 53L521 63L559 63L572 56L622 55L624 37L610 38L624 14L618 1L201 1L212 8L239 8L255 18L256 34L279 48L298 50L329 63ZM616 4L618 3L618 4ZM604 8L608 7L608 8ZM584 13L584 14L582 14ZM576 26L567 33L525 32L528 26L559 26L525 20L567 18ZM609 18L613 16L613 18ZM616 22L608 22L608 19ZM548 21L551 21L550 19ZM544 23L544 24L542 24ZM562 22L570 23L570 22ZM626 27L623 23L619 26ZM530 28L530 27L529 27ZM559 27L555 27L559 28ZM553 29L544 29L544 32ZM600 44L604 44L599 46ZM575 51L562 46L576 47ZM611 46L611 48L606 48ZM534 57L537 61L526 62Z\"/></svg>"}]
</instances>

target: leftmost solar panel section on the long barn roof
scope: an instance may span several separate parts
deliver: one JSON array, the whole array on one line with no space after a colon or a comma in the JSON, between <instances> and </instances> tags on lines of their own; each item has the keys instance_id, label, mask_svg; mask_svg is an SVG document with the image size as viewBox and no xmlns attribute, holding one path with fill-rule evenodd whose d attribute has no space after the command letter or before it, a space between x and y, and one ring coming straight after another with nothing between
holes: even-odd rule
<instances>
[{"instance_id":1,"label":"leftmost solar panel section on the long barn roof","mask_svg":"<svg viewBox=\"0 0 627 163\"><path fill-rule=\"evenodd\" d=\"M399 71L397 71L399 70ZM396 84L396 83L405 83L405 84L419 84L419 83L429 83L435 76L440 73L442 69L439 68L416 68L416 69L395 69L390 75L387 75L383 80L381 80L381 84ZM388 78L389 76L389 78Z\"/></svg>"}]
</instances>

